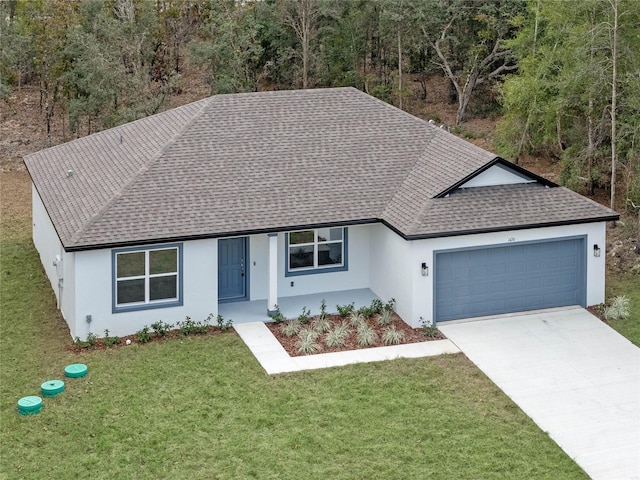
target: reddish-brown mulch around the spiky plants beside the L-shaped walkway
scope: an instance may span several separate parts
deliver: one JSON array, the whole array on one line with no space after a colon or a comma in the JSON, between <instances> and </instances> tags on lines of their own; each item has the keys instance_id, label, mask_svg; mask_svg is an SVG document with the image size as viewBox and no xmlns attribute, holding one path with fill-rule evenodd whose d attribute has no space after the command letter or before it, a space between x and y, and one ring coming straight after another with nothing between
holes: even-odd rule
<instances>
[{"instance_id":1,"label":"reddish-brown mulch around the spiky plants beside the L-shaped walkway","mask_svg":"<svg viewBox=\"0 0 640 480\"><path fill-rule=\"evenodd\" d=\"M404 333L404 338L402 339L402 341L399 343L399 345L404 345L404 344L408 344L408 343L418 343L418 342L426 342L426 341L430 341L430 340L443 340L446 337L439 331L436 330L434 332L434 336L432 337L427 337L425 336L425 334L423 333L423 330L421 328L411 328L408 324L406 324L396 313L393 314L393 320L389 325L378 325L378 322L376 322L376 315L374 315L373 317L366 319L367 324L369 325L369 327L371 327L375 332L376 332L376 337L377 337L377 341L368 347L362 347L360 345L358 345L358 340L357 340L357 333L356 333L356 328L355 327L351 327L351 331L349 336L347 337L346 341L344 342L344 345L342 347L339 348L330 348L327 347L324 343L324 337L326 335L322 334L320 335L320 337L318 338L318 344L322 347L321 350L319 350L316 353L332 353L332 352L343 352L343 351L347 351L347 350L360 350L363 348L374 348L374 347L384 347L387 346L385 345L385 343L382 341L382 334L383 332L390 326L390 325L395 325L396 330L401 331ZM343 322L349 322L349 318L343 318L340 315L329 315L329 321L331 322L331 329L333 329L335 326L339 325L340 323ZM269 322L269 323L265 323L265 325L267 326L267 328L269 328L269 330L271 330L271 333L273 333L273 336L276 337L276 339L278 340L278 342L280 342L280 344L284 347L284 349L287 351L287 353L292 356L292 357L297 357L297 356L301 356L303 354L298 352L298 348L296 347L296 342L298 341L298 336L294 335L292 337L287 337L285 336L280 328L282 323L274 323L274 322ZM313 318L311 318L309 320L309 323L305 326L307 327L311 327L313 325Z\"/></svg>"}]
</instances>

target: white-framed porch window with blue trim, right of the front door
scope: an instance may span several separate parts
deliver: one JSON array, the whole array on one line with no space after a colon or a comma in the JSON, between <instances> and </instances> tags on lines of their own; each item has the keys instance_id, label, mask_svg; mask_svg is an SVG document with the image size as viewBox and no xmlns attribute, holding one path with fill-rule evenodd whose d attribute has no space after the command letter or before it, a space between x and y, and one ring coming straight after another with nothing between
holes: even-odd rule
<instances>
[{"instance_id":1,"label":"white-framed porch window with blue trim, right of the front door","mask_svg":"<svg viewBox=\"0 0 640 480\"><path fill-rule=\"evenodd\" d=\"M287 234L287 275L347 270L346 228L316 228Z\"/></svg>"}]
</instances>

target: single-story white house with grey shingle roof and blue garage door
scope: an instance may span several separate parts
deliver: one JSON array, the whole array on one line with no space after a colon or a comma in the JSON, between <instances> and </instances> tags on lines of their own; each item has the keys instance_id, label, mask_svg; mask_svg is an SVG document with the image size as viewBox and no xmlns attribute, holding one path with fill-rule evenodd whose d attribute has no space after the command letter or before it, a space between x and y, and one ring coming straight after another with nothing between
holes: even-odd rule
<instances>
[{"instance_id":1,"label":"single-story white house with grey shingle roof and blue garage door","mask_svg":"<svg viewBox=\"0 0 640 480\"><path fill-rule=\"evenodd\" d=\"M354 88L215 95L25 164L81 338L350 289L415 327L598 304L618 218Z\"/></svg>"}]
</instances>

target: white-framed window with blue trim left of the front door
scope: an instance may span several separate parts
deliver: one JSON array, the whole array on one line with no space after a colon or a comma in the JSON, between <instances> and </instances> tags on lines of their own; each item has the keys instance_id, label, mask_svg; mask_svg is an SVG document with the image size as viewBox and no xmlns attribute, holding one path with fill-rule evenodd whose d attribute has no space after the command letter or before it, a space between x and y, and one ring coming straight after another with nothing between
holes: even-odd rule
<instances>
[{"instance_id":1,"label":"white-framed window with blue trim left of the front door","mask_svg":"<svg viewBox=\"0 0 640 480\"><path fill-rule=\"evenodd\" d=\"M114 311L182 305L182 246L113 251Z\"/></svg>"}]
</instances>

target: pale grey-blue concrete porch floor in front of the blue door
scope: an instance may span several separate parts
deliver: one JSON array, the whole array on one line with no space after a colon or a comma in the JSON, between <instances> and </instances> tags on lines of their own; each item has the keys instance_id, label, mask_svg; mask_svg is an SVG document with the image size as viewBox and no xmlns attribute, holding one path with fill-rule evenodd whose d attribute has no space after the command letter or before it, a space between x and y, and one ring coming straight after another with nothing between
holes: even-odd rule
<instances>
[{"instance_id":1,"label":"pale grey-blue concrete porch floor in front of the blue door","mask_svg":"<svg viewBox=\"0 0 640 480\"><path fill-rule=\"evenodd\" d=\"M339 292L280 297L278 298L278 307L285 318L296 318L302 312L302 307L311 310L311 315L319 314L320 304L323 299L327 302L327 312L336 313L336 305L348 305L351 302L355 302L355 308L358 309L369 306L376 298L378 296L370 289L359 288ZM269 320L266 298L250 302L220 303L218 304L218 313L225 320L233 320L233 323L264 322Z\"/></svg>"}]
</instances>

